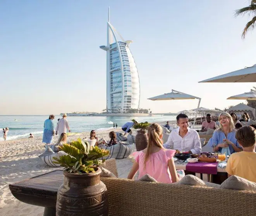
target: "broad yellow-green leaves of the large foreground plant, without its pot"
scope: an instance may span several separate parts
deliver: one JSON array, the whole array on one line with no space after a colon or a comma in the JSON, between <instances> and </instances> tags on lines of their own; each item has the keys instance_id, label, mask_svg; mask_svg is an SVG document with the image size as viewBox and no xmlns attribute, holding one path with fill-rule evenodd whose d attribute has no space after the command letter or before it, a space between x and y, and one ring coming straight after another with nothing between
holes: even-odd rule
<instances>
[{"instance_id":1,"label":"broad yellow-green leaves of the large foreground plant, without its pot","mask_svg":"<svg viewBox=\"0 0 256 216\"><path fill-rule=\"evenodd\" d=\"M96 167L105 161L100 158L109 154L108 150L100 149L98 146L90 147L88 142L83 142L81 139L63 144L59 149L67 155L60 158L53 157L56 160L53 163L65 167L69 173L77 174L95 172Z\"/></svg>"}]
</instances>

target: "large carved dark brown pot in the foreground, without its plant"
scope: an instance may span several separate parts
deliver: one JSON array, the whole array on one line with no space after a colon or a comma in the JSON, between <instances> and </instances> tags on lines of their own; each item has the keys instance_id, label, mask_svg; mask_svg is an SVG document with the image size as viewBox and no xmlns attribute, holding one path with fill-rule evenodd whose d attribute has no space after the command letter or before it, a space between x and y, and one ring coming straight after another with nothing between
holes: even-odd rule
<instances>
[{"instance_id":1,"label":"large carved dark brown pot in the foreground, without its plant","mask_svg":"<svg viewBox=\"0 0 256 216\"><path fill-rule=\"evenodd\" d=\"M57 194L56 216L107 216L107 187L101 182L100 173L100 168L82 175L64 171L64 183Z\"/></svg>"}]
</instances>

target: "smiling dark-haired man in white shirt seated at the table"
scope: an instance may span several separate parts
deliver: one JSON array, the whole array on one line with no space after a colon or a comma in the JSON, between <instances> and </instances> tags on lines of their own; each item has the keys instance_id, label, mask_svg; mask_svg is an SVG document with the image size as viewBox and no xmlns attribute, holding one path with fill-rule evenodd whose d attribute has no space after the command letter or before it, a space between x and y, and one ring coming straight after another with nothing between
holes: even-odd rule
<instances>
[{"instance_id":1,"label":"smiling dark-haired man in white shirt seated at the table","mask_svg":"<svg viewBox=\"0 0 256 216\"><path fill-rule=\"evenodd\" d=\"M172 130L167 142L163 145L166 149L188 151L191 154L201 153L202 147L198 132L189 128L189 118L185 114L176 117L179 128Z\"/></svg>"}]
</instances>

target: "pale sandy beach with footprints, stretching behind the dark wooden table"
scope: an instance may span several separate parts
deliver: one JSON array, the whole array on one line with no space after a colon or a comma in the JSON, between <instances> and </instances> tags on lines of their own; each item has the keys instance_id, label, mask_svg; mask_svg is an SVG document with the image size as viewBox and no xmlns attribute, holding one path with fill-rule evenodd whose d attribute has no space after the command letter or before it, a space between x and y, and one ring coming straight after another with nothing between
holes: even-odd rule
<instances>
[{"instance_id":1,"label":"pale sandy beach with footprints, stretching behind the dark wooden table","mask_svg":"<svg viewBox=\"0 0 256 216\"><path fill-rule=\"evenodd\" d=\"M112 129L113 130L113 129ZM96 131L96 135L109 140L108 133L111 130ZM121 129L115 129L121 132ZM135 133L134 133L135 135ZM89 132L68 137L68 141L78 137L89 137ZM54 136L53 143L56 143L57 136ZM42 137L34 139L21 139L0 142L0 215L8 216L42 216L44 208L33 206L18 201L10 192L9 184L25 180L43 173L60 168L52 168L38 158L38 155L45 151ZM120 178L127 178L131 169L132 161L129 158L117 160L117 168Z\"/></svg>"}]
</instances>

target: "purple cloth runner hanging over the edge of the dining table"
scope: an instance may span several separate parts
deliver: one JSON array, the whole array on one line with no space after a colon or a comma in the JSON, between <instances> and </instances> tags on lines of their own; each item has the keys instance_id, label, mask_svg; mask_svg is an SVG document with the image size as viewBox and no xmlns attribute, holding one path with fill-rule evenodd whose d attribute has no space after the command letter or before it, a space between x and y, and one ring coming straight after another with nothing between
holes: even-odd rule
<instances>
[{"instance_id":1,"label":"purple cloth runner hanging over the edge of the dining table","mask_svg":"<svg viewBox=\"0 0 256 216\"><path fill-rule=\"evenodd\" d=\"M187 163L186 170L193 173L217 174L218 162L215 163Z\"/></svg>"}]
</instances>

